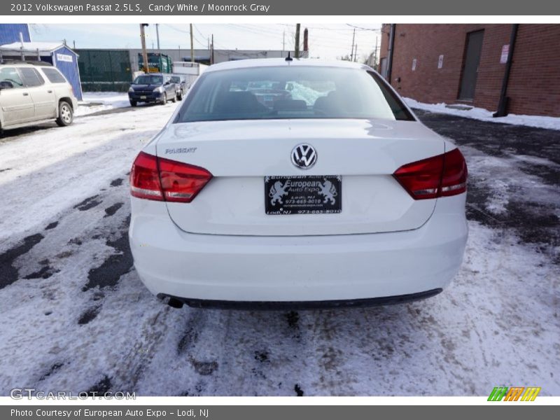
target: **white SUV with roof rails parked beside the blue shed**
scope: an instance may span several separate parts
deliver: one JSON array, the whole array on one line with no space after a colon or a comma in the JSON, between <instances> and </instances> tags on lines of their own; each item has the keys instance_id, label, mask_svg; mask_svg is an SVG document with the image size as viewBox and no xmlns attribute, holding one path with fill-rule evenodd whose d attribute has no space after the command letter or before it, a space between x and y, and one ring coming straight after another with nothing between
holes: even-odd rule
<instances>
[{"instance_id":1,"label":"white SUV with roof rails parked beside the blue shed","mask_svg":"<svg viewBox=\"0 0 560 420\"><path fill-rule=\"evenodd\" d=\"M0 64L0 130L56 120L70 125L78 100L68 80L42 62Z\"/></svg>"}]
</instances>

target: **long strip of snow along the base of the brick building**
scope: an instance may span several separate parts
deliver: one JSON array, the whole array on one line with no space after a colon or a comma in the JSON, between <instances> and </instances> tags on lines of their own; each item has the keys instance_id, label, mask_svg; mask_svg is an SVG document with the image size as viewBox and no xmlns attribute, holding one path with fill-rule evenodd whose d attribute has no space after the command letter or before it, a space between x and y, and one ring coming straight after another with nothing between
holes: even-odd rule
<instances>
[{"instance_id":1,"label":"long strip of snow along the base of the brick building","mask_svg":"<svg viewBox=\"0 0 560 420\"><path fill-rule=\"evenodd\" d=\"M526 125L527 127L547 128L549 130L560 130L560 118L543 116L522 116L510 114L506 117L493 118L492 111L483 108L454 109L448 108L447 104L424 104L412 98L404 98L410 108L421 109L434 113L444 113L453 116L472 118L475 120L488 121L490 123L503 123L512 125Z\"/></svg>"}]
</instances>

